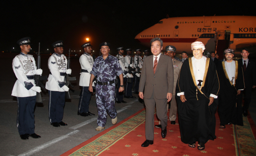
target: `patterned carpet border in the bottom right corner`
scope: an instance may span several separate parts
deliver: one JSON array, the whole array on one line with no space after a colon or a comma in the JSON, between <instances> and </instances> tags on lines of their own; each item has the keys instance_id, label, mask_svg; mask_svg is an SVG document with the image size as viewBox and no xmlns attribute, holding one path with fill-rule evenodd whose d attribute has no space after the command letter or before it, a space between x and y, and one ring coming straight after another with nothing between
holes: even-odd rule
<instances>
[{"instance_id":1,"label":"patterned carpet border in the bottom right corner","mask_svg":"<svg viewBox=\"0 0 256 156\"><path fill-rule=\"evenodd\" d=\"M233 125L234 142L237 156L256 156L256 140L247 117L244 126Z\"/></svg>"}]
</instances>

